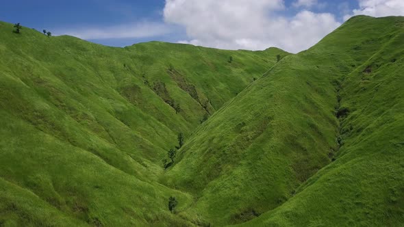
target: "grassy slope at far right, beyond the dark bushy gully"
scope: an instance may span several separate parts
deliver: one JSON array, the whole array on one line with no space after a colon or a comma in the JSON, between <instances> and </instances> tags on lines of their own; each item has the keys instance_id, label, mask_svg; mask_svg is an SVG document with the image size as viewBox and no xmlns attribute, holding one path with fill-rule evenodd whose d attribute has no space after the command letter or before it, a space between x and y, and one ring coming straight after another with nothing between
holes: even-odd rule
<instances>
[{"instance_id":1,"label":"grassy slope at far right, beyond the dark bushy gully","mask_svg":"<svg viewBox=\"0 0 404 227\"><path fill-rule=\"evenodd\" d=\"M346 43L347 53L373 55L340 78L344 114L336 161L294 198L245 226L403 225L404 18L353 18L334 36L346 36L344 29L372 35ZM312 51L333 43L329 37Z\"/></svg>"}]
</instances>

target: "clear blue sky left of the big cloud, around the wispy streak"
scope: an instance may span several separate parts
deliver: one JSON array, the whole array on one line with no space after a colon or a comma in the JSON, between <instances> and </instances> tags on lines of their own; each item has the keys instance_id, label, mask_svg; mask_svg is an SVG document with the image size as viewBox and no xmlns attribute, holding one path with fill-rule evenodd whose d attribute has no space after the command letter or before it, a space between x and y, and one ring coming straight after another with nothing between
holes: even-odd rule
<instances>
[{"instance_id":1,"label":"clear blue sky left of the big cloud, around the wispy streak","mask_svg":"<svg viewBox=\"0 0 404 227\"><path fill-rule=\"evenodd\" d=\"M162 22L164 4L164 0L5 0L0 8L0 20L10 23L20 22L26 27L39 31L42 29L57 32L71 31L79 27L131 25L141 21ZM16 8L16 5L18 5L18 13L12 10ZM171 34L171 36L145 38L90 40L111 46L125 46L149 40L175 42L181 35L175 34L175 36Z\"/></svg>"}]
</instances>

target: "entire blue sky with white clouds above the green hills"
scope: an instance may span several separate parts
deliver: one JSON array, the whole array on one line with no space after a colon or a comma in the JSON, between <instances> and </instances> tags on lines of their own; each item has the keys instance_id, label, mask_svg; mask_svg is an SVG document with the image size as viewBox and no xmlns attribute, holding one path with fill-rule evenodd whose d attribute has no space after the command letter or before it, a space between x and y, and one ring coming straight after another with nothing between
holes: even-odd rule
<instances>
[{"instance_id":1,"label":"entire blue sky with white clouds above the green hills","mask_svg":"<svg viewBox=\"0 0 404 227\"><path fill-rule=\"evenodd\" d=\"M297 52L318 42L354 14L402 15L403 2L3 0L0 20L110 46L160 40L221 49L255 50L277 46Z\"/></svg>"}]
</instances>

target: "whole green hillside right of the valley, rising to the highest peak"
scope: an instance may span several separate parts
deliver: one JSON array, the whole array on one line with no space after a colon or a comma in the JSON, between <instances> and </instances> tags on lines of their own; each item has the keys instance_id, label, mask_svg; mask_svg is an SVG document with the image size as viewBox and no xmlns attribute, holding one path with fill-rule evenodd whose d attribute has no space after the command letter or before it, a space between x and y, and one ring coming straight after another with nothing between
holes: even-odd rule
<instances>
[{"instance_id":1,"label":"whole green hillside right of the valley, rising to the highest peak","mask_svg":"<svg viewBox=\"0 0 404 227\"><path fill-rule=\"evenodd\" d=\"M402 223L403 21L351 18L216 112L162 179L198 198L184 217L223 226L269 211L246 226Z\"/></svg>"}]
</instances>

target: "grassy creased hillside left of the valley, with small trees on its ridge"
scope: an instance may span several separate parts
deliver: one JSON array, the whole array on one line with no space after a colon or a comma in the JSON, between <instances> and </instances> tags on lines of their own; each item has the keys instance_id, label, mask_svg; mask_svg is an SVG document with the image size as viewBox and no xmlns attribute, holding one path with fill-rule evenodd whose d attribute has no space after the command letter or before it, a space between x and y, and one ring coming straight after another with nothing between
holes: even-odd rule
<instances>
[{"instance_id":1,"label":"grassy creased hillside left of the valley, with small trees on its ridge","mask_svg":"<svg viewBox=\"0 0 404 227\"><path fill-rule=\"evenodd\" d=\"M0 23L0 225L189 225L166 207L192 198L157 183L162 159L278 54L112 48Z\"/></svg>"}]
</instances>

